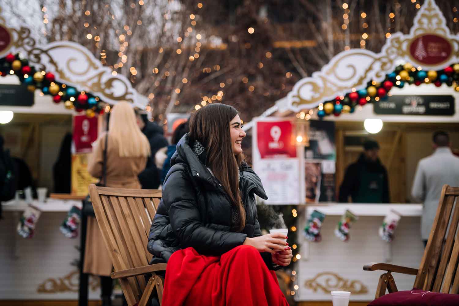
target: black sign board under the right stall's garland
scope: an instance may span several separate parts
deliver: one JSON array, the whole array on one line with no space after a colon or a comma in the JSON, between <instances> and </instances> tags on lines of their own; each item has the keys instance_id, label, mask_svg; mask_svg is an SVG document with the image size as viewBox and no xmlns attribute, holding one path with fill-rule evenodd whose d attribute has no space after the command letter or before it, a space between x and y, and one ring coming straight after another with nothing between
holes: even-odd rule
<instances>
[{"instance_id":1,"label":"black sign board under the right stall's garland","mask_svg":"<svg viewBox=\"0 0 459 306\"><path fill-rule=\"evenodd\" d=\"M379 115L454 115L452 95L392 95L373 104Z\"/></svg>"}]
</instances>

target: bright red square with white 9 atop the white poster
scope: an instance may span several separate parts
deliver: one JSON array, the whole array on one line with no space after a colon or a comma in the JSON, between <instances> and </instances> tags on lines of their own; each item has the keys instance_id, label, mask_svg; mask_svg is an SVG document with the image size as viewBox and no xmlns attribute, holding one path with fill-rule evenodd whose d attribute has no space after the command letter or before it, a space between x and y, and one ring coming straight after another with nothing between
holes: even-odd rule
<instances>
[{"instance_id":1,"label":"bright red square with white 9 atop the white poster","mask_svg":"<svg viewBox=\"0 0 459 306\"><path fill-rule=\"evenodd\" d=\"M261 158L297 157L290 121L257 122L257 145Z\"/></svg>"}]
</instances>

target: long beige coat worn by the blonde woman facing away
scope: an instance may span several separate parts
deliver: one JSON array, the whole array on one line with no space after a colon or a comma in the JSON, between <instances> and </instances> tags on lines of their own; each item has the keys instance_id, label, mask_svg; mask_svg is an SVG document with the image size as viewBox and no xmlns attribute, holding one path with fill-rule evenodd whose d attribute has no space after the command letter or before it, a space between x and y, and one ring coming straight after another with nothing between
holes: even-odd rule
<instances>
[{"instance_id":1,"label":"long beige coat worn by the blonde woman facing away","mask_svg":"<svg viewBox=\"0 0 459 306\"><path fill-rule=\"evenodd\" d=\"M94 143L93 152L88 161L88 170L95 178L102 176L105 135L106 133L102 134ZM107 147L106 186L140 189L137 176L145 169L147 157L120 157L119 144L110 136ZM86 233L83 272L109 276L112 273L113 264L95 217L88 217Z\"/></svg>"}]
</instances>

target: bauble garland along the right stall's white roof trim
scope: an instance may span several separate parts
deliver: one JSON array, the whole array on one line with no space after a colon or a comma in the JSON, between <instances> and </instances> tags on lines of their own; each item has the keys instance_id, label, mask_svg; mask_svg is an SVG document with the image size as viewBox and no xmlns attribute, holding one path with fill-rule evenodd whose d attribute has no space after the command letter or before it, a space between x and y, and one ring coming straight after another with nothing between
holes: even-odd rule
<instances>
[{"instance_id":1,"label":"bauble garland along the right stall's white roof trim","mask_svg":"<svg viewBox=\"0 0 459 306\"><path fill-rule=\"evenodd\" d=\"M405 83L419 86L422 83L434 83L440 87L443 83L455 86L459 90L459 64L453 64L442 70L422 70L421 67L413 67L410 63L399 65L395 71L386 75L383 82L370 81L364 89L356 90L344 95L337 96L334 100L319 105L317 116L327 115L340 116L341 113L352 113L355 106L364 106L367 103L375 103L387 99L387 94L393 86L403 88Z\"/></svg>"}]
</instances>

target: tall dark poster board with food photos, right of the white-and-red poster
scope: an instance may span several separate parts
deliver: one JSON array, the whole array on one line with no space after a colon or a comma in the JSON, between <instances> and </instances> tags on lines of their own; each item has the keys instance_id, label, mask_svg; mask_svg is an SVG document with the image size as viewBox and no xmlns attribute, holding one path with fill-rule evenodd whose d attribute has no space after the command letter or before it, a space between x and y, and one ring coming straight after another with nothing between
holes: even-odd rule
<instances>
[{"instance_id":1,"label":"tall dark poster board with food photos, right of the white-and-red poster","mask_svg":"<svg viewBox=\"0 0 459 306\"><path fill-rule=\"evenodd\" d=\"M305 201L336 201L335 122L309 121L309 145L304 148Z\"/></svg>"}]
</instances>

